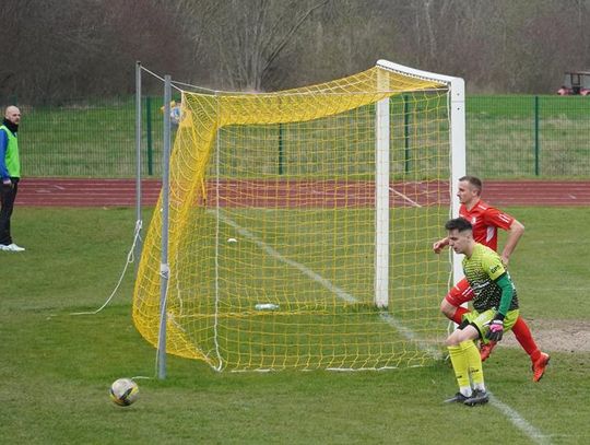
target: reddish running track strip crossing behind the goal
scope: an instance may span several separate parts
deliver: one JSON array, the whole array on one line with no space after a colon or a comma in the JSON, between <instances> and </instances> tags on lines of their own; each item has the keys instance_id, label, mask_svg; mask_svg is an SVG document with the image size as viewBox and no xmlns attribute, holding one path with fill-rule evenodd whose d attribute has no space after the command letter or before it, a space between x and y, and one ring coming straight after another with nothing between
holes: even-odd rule
<instances>
[{"instance_id":1,"label":"reddish running track strip crossing behind the goal","mask_svg":"<svg viewBox=\"0 0 590 445\"><path fill-rule=\"evenodd\" d=\"M231 207L364 207L371 204L374 188L367 181L236 180L208 185L208 199ZM142 203L155 204L160 181L142 181ZM449 202L447 184L437 181L391 184L392 206ZM590 206L590 181L487 180L485 200L494 206ZM23 178L19 207L132 207L134 179Z\"/></svg>"}]
</instances>

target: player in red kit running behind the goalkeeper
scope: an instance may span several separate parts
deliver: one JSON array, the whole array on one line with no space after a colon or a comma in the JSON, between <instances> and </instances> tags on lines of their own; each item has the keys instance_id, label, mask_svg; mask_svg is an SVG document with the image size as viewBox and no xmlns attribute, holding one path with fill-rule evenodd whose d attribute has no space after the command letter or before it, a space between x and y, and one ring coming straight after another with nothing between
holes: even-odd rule
<instances>
[{"instance_id":1,"label":"player in red kit running behind the goalkeeper","mask_svg":"<svg viewBox=\"0 0 590 445\"><path fill-rule=\"evenodd\" d=\"M498 229L508 232L508 238L500 257L505 266L508 266L510 256L512 255L518 241L524 233L524 226L508 213L489 206L480 198L482 192L482 181L475 176L463 176L459 178L459 215L468 220L473 226L473 238L476 243L483 244L494 250L498 249ZM433 250L439 254L445 246L449 245L448 238L437 241L433 245ZM462 316L468 308L462 307L473 298L473 290L469 286L468 281L463 278L459 281L447 294L440 303L440 311L447 318L461 324ZM541 352L532 338L531 330L522 317L518 317L512 327L515 337L529 354L532 362L533 382L539 382L545 373L545 367L550 361L548 354ZM485 361L496 343L489 342L481 348L482 361Z\"/></svg>"}]
</instances>

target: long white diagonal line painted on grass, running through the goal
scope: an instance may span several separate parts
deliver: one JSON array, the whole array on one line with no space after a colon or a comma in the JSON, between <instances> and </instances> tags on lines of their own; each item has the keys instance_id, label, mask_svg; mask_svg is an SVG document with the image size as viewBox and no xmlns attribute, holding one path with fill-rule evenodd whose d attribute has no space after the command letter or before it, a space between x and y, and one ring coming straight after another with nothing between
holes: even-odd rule
<instances>
[{"instance_id":1,"label":"long white diagonal line painted on grass, running through the goal","mask_svg":"<svg viewBox=\"0 0 590 445\"><path fill-rule=\"evenodd\" d=\"M219 210L217 212L213 212L212 210L208 210L210 213L219 216L224 223L227 225L231 225L234 227L241 236L247 237L252 243L255 243L258 247L260 247L262 250L267 251L272 257L294 267L295 269L299 270L303 274L309 277L311 280L317 281L321 285L323 285L329 291L333 292L339 298L342 298L349 303L357 303L358 300L347 293L346 291L340 289L338 285L333 284L330 280L324 279L323 277L319 276L318 273L314 272L309 268L305 267L304 265L294 261L292 259L288 259L281 255L278 250L273 249L271 246L269 246L263 241L259 239L253 233L248 231L247 229L244 229L239 224L237 224L235 221L228 219L222 212ZM415 341L416 344L423 349L425 352L433 355L435 359L440 359L440 352L438 352L436 349L429 347L426 344L425 341L420 340L417 335L404 327L396 317L391 316L391 314L387 312L382 312L379 314L381 319L390 325L392 328L396 328L402 336L404 336L406 339L411 341ZM551 441L548 440L548 436L541 433L538 429L535 429L533 425L531 425L527 420L522 418L516 410L510 408L508 405L498 400L495 396L492 394L489 395L489 402L491 405L496 408L498 411L500 411L517 429L522 431L527 436L531 438L536 444L540 445L548 445L551 444Z\"/></svg>"}]
</instances>

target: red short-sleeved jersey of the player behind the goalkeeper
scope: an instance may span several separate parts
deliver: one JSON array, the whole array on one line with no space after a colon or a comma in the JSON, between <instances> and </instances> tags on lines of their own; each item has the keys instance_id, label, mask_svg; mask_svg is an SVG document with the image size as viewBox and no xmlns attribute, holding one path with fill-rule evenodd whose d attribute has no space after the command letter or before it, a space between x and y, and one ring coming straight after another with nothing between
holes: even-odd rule
<instances>
[{"instance_id":1,"label":"red short-sleeved jersey of the player behind the goalkeeper","mask_svg":"<svg viewBox=\"0 0 590 445\"><path fill-rule=\"evenodd\" d=\"M491 207L488 203L477 201L471 211L464 204L459 208L459 216L468 220L473 225L473 238L496 251L498 249L498 227L507 231L515 219L508 213Z\"/></svg>"}]
</instances>

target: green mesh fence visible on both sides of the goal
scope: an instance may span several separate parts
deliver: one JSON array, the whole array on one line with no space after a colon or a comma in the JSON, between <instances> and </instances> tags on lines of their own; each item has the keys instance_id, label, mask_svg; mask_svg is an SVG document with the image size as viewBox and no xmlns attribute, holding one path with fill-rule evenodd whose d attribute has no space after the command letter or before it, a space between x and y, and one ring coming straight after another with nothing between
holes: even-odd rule
<instances>
[{"instance_id":1,"label":"green mesh fence visible on both sides of the goal","mask_svg":"<svg viewBox=\"0 0 590 445\"><path fill-rule=\"evenodd\" d=\"M160 177L162 97L144 97L142 165ZM25 176L133 177L134 98L21 105ZM409 110L411 113L411 110ZM483 178L590 177L590 97L468 96L468 173Z\"/></svg>"}]
</instances>

